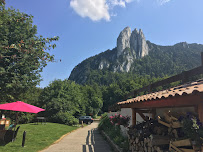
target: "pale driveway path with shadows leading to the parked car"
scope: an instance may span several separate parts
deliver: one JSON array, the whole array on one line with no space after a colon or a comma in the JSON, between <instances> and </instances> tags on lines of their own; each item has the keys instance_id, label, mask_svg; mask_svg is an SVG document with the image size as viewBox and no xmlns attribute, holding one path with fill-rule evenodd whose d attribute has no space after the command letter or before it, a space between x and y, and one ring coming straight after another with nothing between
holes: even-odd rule
<instances>
[{"instance_id":1,"label":"pale driveway path with shadows leading to the parked car","mask_svg":"<svg viewBox=\"0 0 203 152\"><path fill-rule=\"evenodd\" d=\"M111 152L108 143L97 130L94 122L65 136L60 142L41 152Z\"/></svg>"}]
</instances>

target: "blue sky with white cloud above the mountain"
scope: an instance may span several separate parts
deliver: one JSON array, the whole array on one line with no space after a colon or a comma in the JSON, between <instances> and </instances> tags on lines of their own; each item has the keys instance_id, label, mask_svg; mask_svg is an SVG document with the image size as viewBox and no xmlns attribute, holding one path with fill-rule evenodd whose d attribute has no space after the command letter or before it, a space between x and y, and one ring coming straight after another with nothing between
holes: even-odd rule
<instances>
[{"instance_id":1,"label":"blue sky with white cloud above the mountain","mask_svg":"<svg viewBox=\"0 0 203 152\"><path fill-rule=\"evenodd\" d=\"M129 26L159 45L203 44L203 0L6 0L6 7L34 16L38 35L59 36L39 87L67 79L83 60L116 47ZM60 62L61 59L61 62Z\"/></svg>"}]
</instances>

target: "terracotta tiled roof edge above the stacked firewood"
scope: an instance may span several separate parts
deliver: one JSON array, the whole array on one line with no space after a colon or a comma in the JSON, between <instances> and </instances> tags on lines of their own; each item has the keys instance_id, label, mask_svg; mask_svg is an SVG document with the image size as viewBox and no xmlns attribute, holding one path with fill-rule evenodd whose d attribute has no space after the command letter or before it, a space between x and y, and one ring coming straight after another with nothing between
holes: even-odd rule
<instances>
[{"instance_id":1,"label":"terracotta tiled roof edge above the stacked firewood","mask_svg":"<svg viewBox=\"0 0 203 152\"><path fill-rule=\"evenodd\" d=\"M189 94L194 94L198 92L203 92L203 79L198 80L196 82L170 88L168 90L163 90L163 91L158 91L158 92L138 96L136 98L118 102L117 104L122 105L122 104L129 104L129 103L135 103L135 102L158 100L158 99L164 99L168 97L189 95Z\"/></svg>"}]
</instances>

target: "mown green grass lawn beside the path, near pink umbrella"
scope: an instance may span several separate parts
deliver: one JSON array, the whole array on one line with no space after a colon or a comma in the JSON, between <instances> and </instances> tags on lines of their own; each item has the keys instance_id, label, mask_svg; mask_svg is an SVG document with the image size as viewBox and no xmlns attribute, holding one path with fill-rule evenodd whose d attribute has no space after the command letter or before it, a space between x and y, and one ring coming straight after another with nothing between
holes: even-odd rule
<instances>
[{"instance_id":1,"label":"mown green grass lawn beside the path, near pink umbrella","mask_svg":"<svg viewBox=\"0 0 203 152\"><path fill-rule=\"evenodd\" d=\"M51 145L62 135L77 129L57 123L22 124L18 130L17 138L5 146L0 146L1 152L37 152ZM22 147L23 131L26 131L25 147Z\"/></svg>"}]
</instances>

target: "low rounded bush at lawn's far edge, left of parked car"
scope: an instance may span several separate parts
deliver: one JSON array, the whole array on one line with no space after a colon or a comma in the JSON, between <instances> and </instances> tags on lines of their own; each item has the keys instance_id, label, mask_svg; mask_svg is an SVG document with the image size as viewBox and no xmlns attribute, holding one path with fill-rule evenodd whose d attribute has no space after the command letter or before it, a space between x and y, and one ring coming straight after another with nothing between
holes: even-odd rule
<instances>
[{"instance_id":1,"label":"low rounded bush at lawn's far edge, left of parked car","mask_svg":"<svg viewBox=\"0 0 203 152\"><path fill-rule=\"evenodd\" d=\"M66 125L76 125L79 122L78 119L76 119L70 113L61 111L58 112L55 116L52 116L52 121Z\"/></svg>"}]
</instances>

